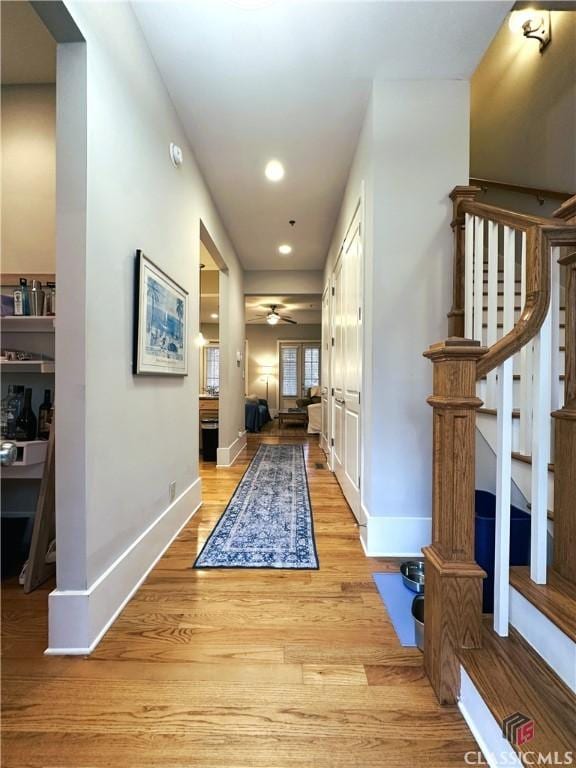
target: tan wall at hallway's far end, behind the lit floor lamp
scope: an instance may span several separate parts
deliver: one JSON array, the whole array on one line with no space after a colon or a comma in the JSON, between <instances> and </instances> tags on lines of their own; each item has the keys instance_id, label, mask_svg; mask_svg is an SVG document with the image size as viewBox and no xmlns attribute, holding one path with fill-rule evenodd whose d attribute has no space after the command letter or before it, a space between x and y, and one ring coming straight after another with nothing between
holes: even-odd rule
<instances>
[{"instance_id":1,"label":"tan wall at hallway's far end, behind the lit floor lamp","mask_svg":"<svg viewBox=\"0 0 576 768\"><path fill-rule=\"evenodd\" d=\"M247 325L248 374L246 394L266 397L266 381L263 381L262 366L274 367L268 387L268 405L278 408L278 342L279 341L320 341L321 325Z\"/></svg>"}]
</instances>

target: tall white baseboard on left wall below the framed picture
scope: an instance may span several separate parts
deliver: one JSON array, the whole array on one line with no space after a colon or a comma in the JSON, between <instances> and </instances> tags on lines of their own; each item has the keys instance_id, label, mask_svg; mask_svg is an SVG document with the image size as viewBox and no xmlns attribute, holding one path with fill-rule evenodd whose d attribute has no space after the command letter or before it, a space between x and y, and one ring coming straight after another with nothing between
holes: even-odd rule
<instances>
[{"instance_id":1,"label":"tall white baseboard on left wall below the framed picture","mask_svg":"<svg viewBox=\"0 0 576 768\"><path fill-rule=\"evenodd\" d=\"M88 589L51 592L48 655L88 655L202 503L196 479ZM190 568L193 556L190 555Z\"/></svg>"}]
</instances>

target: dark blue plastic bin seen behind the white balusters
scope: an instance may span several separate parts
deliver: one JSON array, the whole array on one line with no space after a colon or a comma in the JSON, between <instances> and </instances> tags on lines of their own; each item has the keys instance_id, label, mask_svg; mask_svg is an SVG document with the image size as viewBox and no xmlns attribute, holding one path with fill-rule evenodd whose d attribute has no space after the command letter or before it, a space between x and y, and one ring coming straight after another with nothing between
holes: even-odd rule
<instances>
[{"instance_id":1,"label":"dark blue plastic bin seen behind the white balusters","mask_svg":"<svg viewBox=\"0 0 576 768\"><path fill-rule=\"evenodd\" d=\"M496 557L496 496L476 491L475 559L486 571L484 613L494 612L494 560ZM530 515L510 507L510 565L530 565Z\"/></svg>"}]
</instances>

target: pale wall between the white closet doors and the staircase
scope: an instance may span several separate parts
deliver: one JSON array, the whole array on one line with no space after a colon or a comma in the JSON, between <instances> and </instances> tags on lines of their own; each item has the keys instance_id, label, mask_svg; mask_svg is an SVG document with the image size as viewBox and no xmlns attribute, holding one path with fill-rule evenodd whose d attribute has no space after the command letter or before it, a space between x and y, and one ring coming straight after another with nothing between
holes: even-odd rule
<instances>
[{"instance_id":1,"label":"pale wall between the white closet doors and the staircase","mask_svg":"<svg viewBox=\"0 0 576 768\"><path fill-rule=\"evenodd\" d=\"M447 331L448 194L468 178L468 94L465 81L374 82L330 248L326 275L364 181L362 506L371 554L417 554L430 534L432 368L422 353Z\"/></svg>"}]
</instances>

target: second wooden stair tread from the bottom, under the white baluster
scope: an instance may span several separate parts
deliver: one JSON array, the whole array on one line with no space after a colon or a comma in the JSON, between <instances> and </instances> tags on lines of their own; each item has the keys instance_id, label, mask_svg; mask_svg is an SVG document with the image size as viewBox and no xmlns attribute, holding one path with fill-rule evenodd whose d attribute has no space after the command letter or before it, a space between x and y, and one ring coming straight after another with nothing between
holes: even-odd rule
<instances>
[{"instance_id":1,"label":"second wooden stair tread from the bottom, under the white baluster","mask_svg":"<svg viewBox=\"0 0 576 768\"><path fill-rule=\"evenodd\" d=\"M576 642L576 585L552 568L548 569L548 583L536 584L530 569L522 565L510 568L510 585Z\"/></svg>"}]
</instances>

